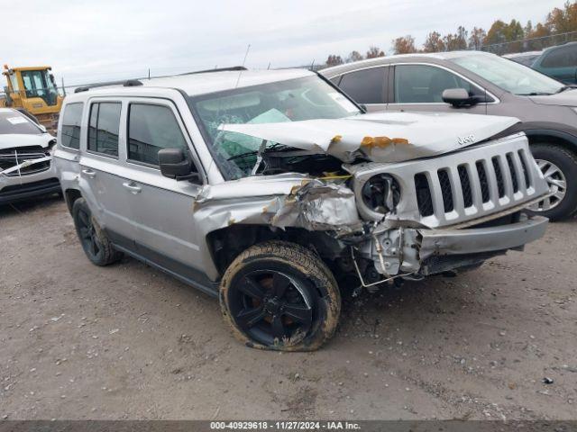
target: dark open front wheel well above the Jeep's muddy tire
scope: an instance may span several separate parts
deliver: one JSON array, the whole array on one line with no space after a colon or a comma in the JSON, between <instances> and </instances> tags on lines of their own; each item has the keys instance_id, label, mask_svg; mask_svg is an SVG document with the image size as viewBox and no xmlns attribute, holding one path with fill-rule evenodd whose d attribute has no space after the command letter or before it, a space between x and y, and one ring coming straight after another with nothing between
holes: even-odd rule
<instances>
[{"instance_id":1,"label":"dark open front wheel well above the Jeep's muddy tire","mask_svg":"<svg viewBox=\"0 0 577 432\"><path fill-rule=\"evenodd\" d=\"M343 244L324 231L302 228L276 229L268 225L232 225L206 236L206 244L221 275L247 248L267 240L285 240L307 247L325 262L341 256Z\"/></svg>"}]
</instances>

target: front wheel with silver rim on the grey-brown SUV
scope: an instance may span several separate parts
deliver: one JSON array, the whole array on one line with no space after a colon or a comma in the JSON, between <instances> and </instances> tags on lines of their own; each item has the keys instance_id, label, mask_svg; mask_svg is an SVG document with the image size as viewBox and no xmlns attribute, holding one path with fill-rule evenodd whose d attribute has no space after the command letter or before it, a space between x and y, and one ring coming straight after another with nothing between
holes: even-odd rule
<instances>
[{"instance_id":1,"label":"front wheel with silver rim on the grey-brown SUV","mask_svg":"<svg viewBox=\"0 0 577 432\"><path fill-rule=\"evenodd\" d=\"M577 211L577 156L555 144L534 144L531 153L554 194L528 210L550 220L570 217Z\"/></svg>"}]
</instances>

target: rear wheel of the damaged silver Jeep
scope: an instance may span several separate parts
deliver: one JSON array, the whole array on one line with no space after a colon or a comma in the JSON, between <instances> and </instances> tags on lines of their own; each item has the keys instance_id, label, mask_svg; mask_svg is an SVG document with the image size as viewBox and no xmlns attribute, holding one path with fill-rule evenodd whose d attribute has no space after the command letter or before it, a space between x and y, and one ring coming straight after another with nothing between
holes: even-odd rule
<instances>
[{"instance_id":1,"label":"rear wheel of the damaged silver Jeep","mask_svg":"<svg viewBox=\"0 0 577 432\"><path fill-rule=\"evenodd\" d=\"M114 250L105 232L92 216L84 198L78 198L72 206L72 219L80 244L88 259L96 266L108 266L119 261L123 254Z\"/></svg>"}]
</instances>

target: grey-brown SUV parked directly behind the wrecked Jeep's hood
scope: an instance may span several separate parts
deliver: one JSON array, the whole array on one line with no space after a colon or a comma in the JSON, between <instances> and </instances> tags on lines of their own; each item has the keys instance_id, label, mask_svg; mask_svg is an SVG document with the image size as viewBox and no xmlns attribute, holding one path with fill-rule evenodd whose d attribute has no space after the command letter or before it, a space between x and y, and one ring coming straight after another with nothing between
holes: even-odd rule
<instances>
[{"instance_id":1,"label":"grey-brown SUV parked directly behind the wrecked Jeep's hood","mask_svg":"<svg viewBox=\"0 0 577 432\"><path fill-rule=\"evenodd\" d=\"M577 211L577 89L481 51L371 58L320 71L373 111L515 116L553 195L531 207L551 220Z\"/></svg>"}]
</instances>

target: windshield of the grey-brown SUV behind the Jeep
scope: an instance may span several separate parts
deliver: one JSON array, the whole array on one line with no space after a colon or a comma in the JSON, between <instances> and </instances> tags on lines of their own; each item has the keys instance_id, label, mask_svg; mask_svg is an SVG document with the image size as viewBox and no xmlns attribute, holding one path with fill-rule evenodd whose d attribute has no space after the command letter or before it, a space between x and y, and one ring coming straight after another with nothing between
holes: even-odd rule
<instances>
[{"instance_id":1,"label":"windshield of the grey-brown SUV behind the Jeep","mask_svg":"<svg viewBox=\"0 0 577 432\"><path fill-rule=\"evenodd\" d=\"M563 88L563 84L548 76L498 56L469 55L451 61L512 94L554 94Z\"/></svg>"}]
</instances>

